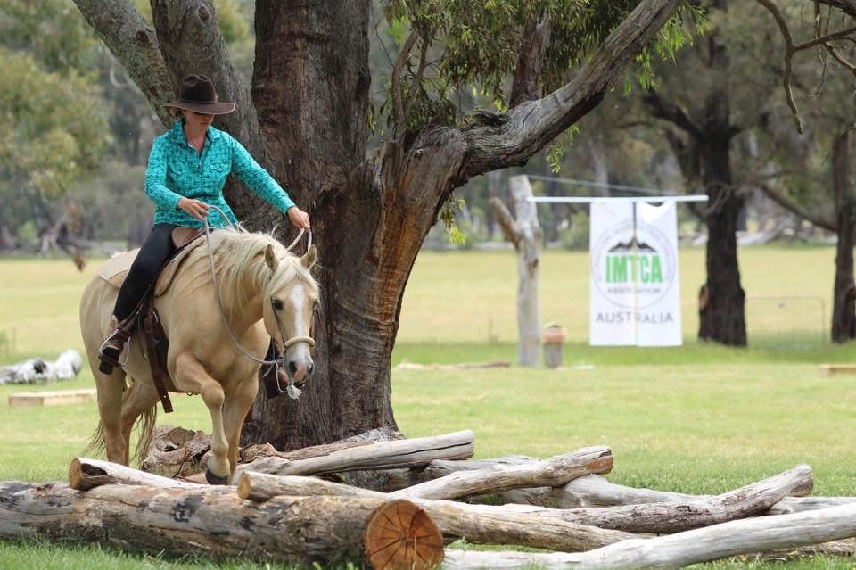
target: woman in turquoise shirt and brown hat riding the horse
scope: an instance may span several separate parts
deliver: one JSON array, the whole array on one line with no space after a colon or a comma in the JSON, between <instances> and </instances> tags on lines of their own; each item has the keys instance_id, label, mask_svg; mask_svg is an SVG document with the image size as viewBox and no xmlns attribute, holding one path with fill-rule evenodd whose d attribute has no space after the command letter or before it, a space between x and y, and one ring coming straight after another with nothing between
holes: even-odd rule
<instances>
[{"instance_id":1,"label":"woman in turquoise shirt and brown hat riding the horse","mask_svg":"<svg viewBox=\"0 0 856 570\"><path fill-rule=\"evenodd\" d=\"M284 212L295 227L309 229L309 215L294 205L268 171L235 138L211 126L215 115L235 111L235 103L218 101L210 78L188 75L178 100L164 106L181 110L183 118L154 140L149 154L145 194L155 204L154 228L116 298L98 354L102 361L99 370L106 375L120 366L119 356L133 328L128 318L177 245L195 228L202 227L206 218L213 227L236 223L235 214L223 198L229 173L235 172L254 193ZM224 211L228 220L210 211L210 206Z\"/></svg>"}]
</instances>

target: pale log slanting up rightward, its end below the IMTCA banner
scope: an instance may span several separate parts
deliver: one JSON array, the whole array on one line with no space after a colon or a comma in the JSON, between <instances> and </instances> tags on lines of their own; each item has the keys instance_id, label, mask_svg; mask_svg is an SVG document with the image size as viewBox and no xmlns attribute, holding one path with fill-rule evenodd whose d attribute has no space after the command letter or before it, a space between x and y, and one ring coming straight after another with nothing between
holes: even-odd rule
<instances>
[{"instance_id":1,"label":"pale log slanting up rightward, its end below the IMTCA banner","mask_svg":"<svg viewBox=\"0 0 856 570\"><path fill-rule=\"evenodd\" d=\"M612 450L604 445L596 445L523 465L494 465L474 471L457 471L391 492L390 496L402 499L457 499L520 487L564 485L582 475L609 473L612 468Z\"/></svg>"}]
</instances>

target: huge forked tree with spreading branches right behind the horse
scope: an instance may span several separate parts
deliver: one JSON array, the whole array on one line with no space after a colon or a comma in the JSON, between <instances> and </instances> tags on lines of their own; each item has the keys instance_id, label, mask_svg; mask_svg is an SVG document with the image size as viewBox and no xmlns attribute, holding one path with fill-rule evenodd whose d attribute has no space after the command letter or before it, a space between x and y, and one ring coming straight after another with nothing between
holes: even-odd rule
<instances>
[{"instance_id":1,"label":"huge forked tree with spreading branches right behind the horse","mask_svg":"<svg viewBox=\"0 0 856 570\"><path fill-rule=\"evenodd\" d=\"M257 0L249 82L210 1L152 0L152 25L127 0L75 2L164 122L160 105L180 78L213 78L237 103L221 128L310 212L323 298L313 383L300 401L261 396L244 430L278 447L395 426L402 295L455 188L526 161L597 106L646 46L668 52L684 37L680 0L391 0L383 18L399 44L374 78L386 103L373 107L370 0ZM454 95L469 86L497 110L458 112ZM371 128L380 145L368 153ZM237 186L226 196L251 228L282 221Z\"/></svg>"}]
</instances>

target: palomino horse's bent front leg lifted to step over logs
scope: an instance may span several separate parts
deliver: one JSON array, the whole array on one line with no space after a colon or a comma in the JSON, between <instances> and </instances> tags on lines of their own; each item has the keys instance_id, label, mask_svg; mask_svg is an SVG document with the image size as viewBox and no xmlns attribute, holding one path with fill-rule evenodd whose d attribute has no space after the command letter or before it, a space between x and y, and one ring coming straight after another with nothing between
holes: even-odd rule
<instances>
[{"instance_id":1,"label":"palomino horse's bent front leg lifted to step over logs","mask_svg":"<svg viewBox=\"0 0 856 570\"><path fill-rule=\"evenodd\" d=\"M226 484L232 474L226 453L229 444L223 426L223 401L226 399L223 387L212 378L208 371L193 355L183 352L176 359L176 384L181 390L198 392L208 407L211 416L211 458L205 478L211 484Z\"/></svg>"}]
</instances>

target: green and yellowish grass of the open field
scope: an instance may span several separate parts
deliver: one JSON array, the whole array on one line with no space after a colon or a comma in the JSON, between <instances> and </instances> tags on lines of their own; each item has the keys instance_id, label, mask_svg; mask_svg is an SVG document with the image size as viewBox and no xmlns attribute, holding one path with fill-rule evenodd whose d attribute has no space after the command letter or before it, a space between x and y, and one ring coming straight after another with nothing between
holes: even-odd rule
<instances>
[{"instance_id":1,"label":"green and yellowish grass of the open field","mask_svg":"<svg viewBox=\"0 0 856 570\"><path fill-rule=\"evenodd\" d=\"M605 444L614 456L611 481L664 491L724 492L808 463L816 494L856 495L856 376L820 376L818 368L824 362L856 361L853 343L819 340L821 318L830 317L834 249L740 252L750 298L750 346L745 349L695 341L695 293L704 280L704 252L687 250L680 257L682 347L588 346L588 256L547 252L541 263L541 315L569 330L564 368L407 370L396 367L403 361L516 359L514 254L422 253L407 287L392 354L392 404L399 428L410 437L473 429L480 458L548 457ZM36 355L52 359L65 348L82 350L77 304L97 265L92 262L78 274L69 260L0 260L0 333L11 337L13 330L15 337L15 350L0 353L0 364ZM753 295L788 300L784 307L778 307L779 299L773 309L764 309L767 301L753 302ZM811 302L801 305L796 297ZM825 315L811 310L819 302ZM807 348L784 349L788 344ZM0 386L0 480L64 479L70 458L83 449L97 422L95 404L11 409L5 404L8 394L92 385L86 370L62 384ZM198 397L176 396L175 408L159 421L210 430ZM0 542L0 567L26 566L265 567ZM739 558L707 566L781 567ZM802 559L786 566L852 567L852 560Z\"/></svg>"}]
</instances>

